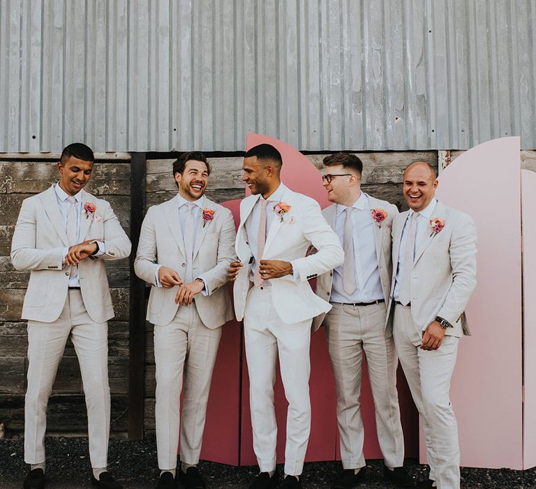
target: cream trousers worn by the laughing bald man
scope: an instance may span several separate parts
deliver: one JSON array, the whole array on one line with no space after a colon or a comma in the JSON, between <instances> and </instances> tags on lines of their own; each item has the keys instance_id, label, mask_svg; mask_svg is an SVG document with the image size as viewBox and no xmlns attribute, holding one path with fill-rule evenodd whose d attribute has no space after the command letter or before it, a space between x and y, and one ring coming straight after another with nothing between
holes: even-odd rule
<instances>
[{"instance_id":1,"label":"cream trousers worn by the laughing bald man","mask_svg":"<svg viewBox=\"0 0 536 489\"><path fill-rule=\"evenodd\" d=\"M437 350L420 349L422 331L413 322L410 305L396 305L393 332L396 353L422 416L430 479L440 489L459 489L458 425L449 397L459 338L445 335Z\"/></svg>"}]
</instances>

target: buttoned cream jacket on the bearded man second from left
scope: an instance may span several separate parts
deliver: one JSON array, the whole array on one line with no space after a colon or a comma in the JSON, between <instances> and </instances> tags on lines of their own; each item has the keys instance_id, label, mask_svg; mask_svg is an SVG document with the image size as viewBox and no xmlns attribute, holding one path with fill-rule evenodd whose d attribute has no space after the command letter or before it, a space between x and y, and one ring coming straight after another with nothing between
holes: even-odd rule
<instances>
[{"instance_id":1,"label":"buttoned cream jacket on the bearded man second from left","mask_svg":"<svg viewBox=\"0 0 536 489\"><path fill-rule=\"evenodd\" d=\"M212 200L205 198L204 205L214 210L214 218L206 224L202 219L199 221L192 271L194 278L204 280L208 295L198 293L194 302L201 321L207 328L214 329L233 319L229 293L224 285L228 282L227 269L235 259L234 220L230 210ZM178 286L157 287L156 270L165 265L184 279L185 256L177 199L150 207L142 224L134 271L152 285L147 319L153 324L169 324L179 308L174 300Z\"/></svg>"}]
</instances>

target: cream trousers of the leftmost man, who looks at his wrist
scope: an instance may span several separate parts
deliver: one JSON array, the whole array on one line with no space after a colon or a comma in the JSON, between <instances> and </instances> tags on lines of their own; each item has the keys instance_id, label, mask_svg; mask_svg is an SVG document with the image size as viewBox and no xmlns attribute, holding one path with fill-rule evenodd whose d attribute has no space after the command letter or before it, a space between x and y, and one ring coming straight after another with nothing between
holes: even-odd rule
<instances>
[{"instance_id":1,"label":"cream trousers of the leftmost man, who looks at his wrist","mask_svg":"<svg viewBox=\"0 0 536 489\"><path fill-rule=\"evenodd\" d=\"M53 323L28 321L28 389L24 404L24 461L45 461L48 398L67 338L75 346L86 395L91 467L106 467L110 436L108 326L87 314L80 290L69 290Z\"/></svg>"}]
</instances>

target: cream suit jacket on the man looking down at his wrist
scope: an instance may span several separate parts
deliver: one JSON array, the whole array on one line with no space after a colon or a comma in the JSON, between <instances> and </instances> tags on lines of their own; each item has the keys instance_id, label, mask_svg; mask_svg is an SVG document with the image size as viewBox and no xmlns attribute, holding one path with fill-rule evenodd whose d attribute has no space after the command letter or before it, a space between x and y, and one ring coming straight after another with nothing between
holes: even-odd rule
<instances>
[{"instance_id":1,"label":"cream suit jacket on the man looking down at his wrist","mask_svg":"<svg viewBox=\"0 0 536 489\"><path fill-rule=\"evenodd\" d=\"M106 253L78 264L80 291L89 317L96 323L104 323L114 316L104 263L126 258L131 254L131 242L110 204L83 189L81 192L82 205L91 202L96 211L87 216L82 210L79 241L103 239ZM64 268L62 263L68 245L54 187L25 199L11 243L15 269L31 271L22 319L43 323L58 319L68 291L70 268Z\"/></svg>"}]
</instances>

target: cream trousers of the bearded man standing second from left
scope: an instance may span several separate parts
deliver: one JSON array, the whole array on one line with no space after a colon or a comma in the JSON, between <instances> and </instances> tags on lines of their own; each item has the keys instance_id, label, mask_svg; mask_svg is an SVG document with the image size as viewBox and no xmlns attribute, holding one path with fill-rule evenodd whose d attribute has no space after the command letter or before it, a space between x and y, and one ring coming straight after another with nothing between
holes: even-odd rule
<instances>
[{"instance_id":1,"label":"cream trousers of the bearded man standing second from left","mask_svg":"<svg viewBox=\"0 0 536 489\"><path fill-rule=\"evenodd\" d=\"M171 323L154 326L156 448L161 470L177 467L179 432L181 462L191 465L199 462L210 381L220 338L221 328L204 326L193 303L180 306Z\"/></svg>"}]
</instances>

